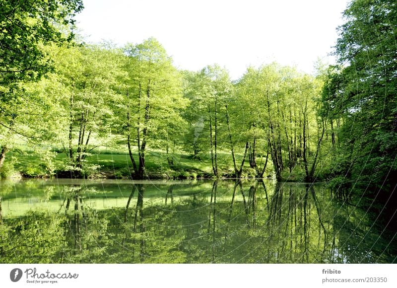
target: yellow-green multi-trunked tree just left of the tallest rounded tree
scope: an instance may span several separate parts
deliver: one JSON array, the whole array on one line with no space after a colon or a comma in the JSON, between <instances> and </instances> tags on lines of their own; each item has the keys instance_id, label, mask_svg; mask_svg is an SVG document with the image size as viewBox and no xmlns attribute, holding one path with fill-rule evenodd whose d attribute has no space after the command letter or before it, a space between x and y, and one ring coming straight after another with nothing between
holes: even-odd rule
<instances>
[{"instance_id":1,"label":"yellow-green multi-trunked tree just left of the tallest rounded tree","mask_svg":"<svg viewBox=\"0 0 397 288\"><path fill-rule=\"evenodd\" d=\"M117 51L98 46L61 48L55 53L59 81L65 87L62 145L69 169L82 175L89 152L112 134L112 88L119 58Z\"/></svg>"}]
</instances>

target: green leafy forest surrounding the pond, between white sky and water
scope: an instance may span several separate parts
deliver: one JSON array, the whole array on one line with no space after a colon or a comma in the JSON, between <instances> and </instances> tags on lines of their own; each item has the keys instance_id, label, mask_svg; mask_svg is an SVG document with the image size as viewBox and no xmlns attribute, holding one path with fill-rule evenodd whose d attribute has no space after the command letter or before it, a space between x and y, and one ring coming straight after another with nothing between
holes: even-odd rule
<instances>
[{"instance_id":1,"label":"green leafy forest surrounding the pond, between white sky and water","mask_svg":"<svg viewBox=\"0 0 397 288\"><path fill-rule=\"evenodd\" d=\"M265 178L397 185L397 7L354 0L315 74L180 71L149 38L73 33L81 0L0 1L0 177ZM336 27L335 27L336 28Z\"/></svg>"}]
</instances>

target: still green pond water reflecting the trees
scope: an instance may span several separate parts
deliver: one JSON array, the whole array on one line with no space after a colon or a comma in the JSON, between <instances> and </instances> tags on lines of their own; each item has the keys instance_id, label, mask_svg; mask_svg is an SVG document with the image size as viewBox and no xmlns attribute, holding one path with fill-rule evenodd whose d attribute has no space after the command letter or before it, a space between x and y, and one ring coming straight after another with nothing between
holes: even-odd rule
<instances>
[{"instance_id":1,"label":"still green pond water reflecting the trees","mask_svg":"<svg viewBox=\"0 0 397 288\"><path fill-rule=\"evenodd\" d=\"M0 193L1 263L397 262L377 205L322 184L32 179Z\"/></svg>"}]
</instances>

